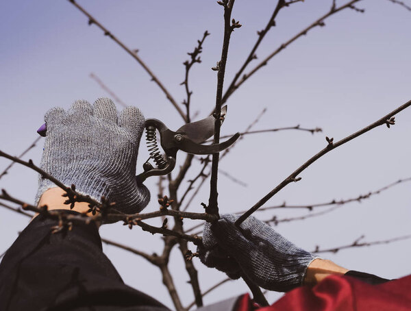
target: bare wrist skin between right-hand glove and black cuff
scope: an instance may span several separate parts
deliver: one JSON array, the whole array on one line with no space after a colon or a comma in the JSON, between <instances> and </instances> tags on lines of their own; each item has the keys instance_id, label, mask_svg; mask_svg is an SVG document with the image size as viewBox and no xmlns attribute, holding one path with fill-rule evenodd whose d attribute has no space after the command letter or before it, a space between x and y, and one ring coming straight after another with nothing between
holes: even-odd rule
<instances>
[{"instance_id":1,"label":"bare wrist skin between right-hand glove and black cuff","mask_svg":"<svg viewBox=\"0 0 411 311\"><path fill-rule=\"evenodd\" d=\"M338 264L335 264L331 260L317 258L308 266L303 284L314 286L329 275L344 275L348 271L348 269L338 266Z\"/></svg>"}]
</instances>

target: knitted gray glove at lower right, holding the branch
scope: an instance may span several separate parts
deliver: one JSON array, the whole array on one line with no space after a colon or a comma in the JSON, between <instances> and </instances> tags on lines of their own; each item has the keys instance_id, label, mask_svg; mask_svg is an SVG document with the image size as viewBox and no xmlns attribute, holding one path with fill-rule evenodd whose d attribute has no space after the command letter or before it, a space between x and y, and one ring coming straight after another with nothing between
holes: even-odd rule
<instances>
[{"instance_id":1,"label":"knitted gray glove at lower right, holding the branch","mask_svg":"<svg viewBox=\"0 0 411 311\"><path fill-rule=\"evenodd\" d=\"M316 257L252 216L240 225L241 232L234 225L237 219L225 214L204 226L204 246L198 249L201 262L232 278L243 273L268 290L286 292L300 286Z\"/></svg>"}]
</instances>

